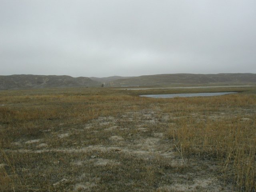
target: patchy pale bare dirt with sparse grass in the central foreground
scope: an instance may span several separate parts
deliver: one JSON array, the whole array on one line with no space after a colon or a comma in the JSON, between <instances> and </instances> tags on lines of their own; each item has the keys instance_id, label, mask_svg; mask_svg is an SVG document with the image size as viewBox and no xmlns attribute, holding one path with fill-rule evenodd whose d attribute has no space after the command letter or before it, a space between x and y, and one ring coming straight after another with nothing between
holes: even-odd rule
<instances>
[{"instance_id":1,"label":"patchy pale bare dirt with sparse grass in the central foreground","mask_svg":"<svg viewBox=\"0 0 256 192\"><path fill-rule=\"evenodd\" d=\"M146 114L144 114L146 112ZM72 143L72 146L77 146L76 148L54 148L50 147L46 143L41 143L40 139L37 140L30 140L25 142L26 144L29 143L30 145L35 145L36 148L40 148L39 150L33 149L19 149L19 150L12 150L12 153L25 153L25 154L47 154L47 153L63 153L67 154L90 154L88 156L84 156L83 159L74 159L69 162L69 166L73 167L74 169L79 168L82 170L84 167L92 165L97 168L114 168L119 167L118 170L124 170L125 165L125 158L131 157L138 159L140 161L144 161L145 164L152 164L154 161L158 162L167 162L166 168L170 167L171 169L164 169L160 171L160 174L166 180L166 183L159 183L157 191L228 191L222 187L222 184L219 180L215 178L205 178L204 172L200 171L198 166L189 167L189 164L196 164L196 159L190 159L188 162L187 158L181 158L181 155L178 151L175 151L175 147L171 145L171 141L166 139L165 134L162 132L163 130L153 130L153 124L157 122L168 122L169 118L166 115L162 116L162 119L159 121L156 117L156 112L142 111L136 113L127 113L122 118L98 118L96 120L92 120L89 124L82 129L73 129L75 132L79 132L79 134L86 133L88 130L91 130L94 134L100 134L101 132L105 132L110 134L108 136L108 140L112 143L108 145L89 145L89 146L81 146L77 142ZM128 124L126 127L122 126L122 122L126 123L132 122L129 120L133 118L140 119L140 124L147 124L148 127L142 127L139 125ZM173 117L174 120L179 120L180 118L184 117ZM113 126L106 126L113 124ZM97 128L97 132L93 130ZM63 130L60 130L63 131ZM125 131L125 132L124 132ZM124 138L125 133L127 133L127 138ZM58 138L65 139L68 138L72 132L66 132L65 134L58 134L55 132ZM74 134L74 132L73 132ZM92 154L92 155L91 155ZM104 154L102 156L101 154ZM108 158L106 154L110 155L111 158ZM58 160L56 164L61 164L61 160ZM146 167L150 167L148 164ZM155 166L160 166L160 164L156 164ZM135 171L137 173L140 172L148 172L147 176L150 176L154 171L147 170L148 168L145 167L145 170L136 168ZM186 170L189 174L172 174L173 169L177 170L178 172ZM153 171L153 172L152 172ZM196 175L196 177L189 175ZM97 188L97 183L100 179L94 180L94 177L91 175L82 174L73 178L74 181L77 181L76 184L73 186L74 191L92 191ZM167 181L172 180L172 184L168 185ZM53 184L56 188L58 186L63 186L68 184L69 181L64 178L59 180ZM132 182L131 185L136 185L135 182ZM222 189L222 190L220 190Z\"/></svg>"}]
</instances>

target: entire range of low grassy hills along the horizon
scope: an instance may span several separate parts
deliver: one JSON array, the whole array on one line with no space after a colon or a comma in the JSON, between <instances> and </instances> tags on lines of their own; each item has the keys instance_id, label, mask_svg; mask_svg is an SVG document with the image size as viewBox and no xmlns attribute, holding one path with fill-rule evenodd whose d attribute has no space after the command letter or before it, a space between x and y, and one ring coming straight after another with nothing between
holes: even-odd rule
<instances>
[{"instance_id":1,"label":"entire range of low grassy hills along the horizon","mask_svg":"<svg viewBox=\"0 0 256 192\"><path fill-rule=\"evenodd\" d=\"M116 80L117 79L117 80ZM112 76L106 78L71 77L56 75L9 75L0 76L0 90L31 88L115 86L170 86L171 84L210 84L210 83L256 83L256 74L160 74L139 77Z\"/></svg>"}]
</instances>

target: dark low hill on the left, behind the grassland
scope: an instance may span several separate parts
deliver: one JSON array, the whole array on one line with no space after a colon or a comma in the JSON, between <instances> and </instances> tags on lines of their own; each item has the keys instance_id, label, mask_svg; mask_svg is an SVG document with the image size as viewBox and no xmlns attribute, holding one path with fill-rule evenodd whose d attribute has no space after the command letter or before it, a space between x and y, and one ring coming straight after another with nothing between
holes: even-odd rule
<instances>
[{"instance_id":1,"label":"dark low hill on the left, behind the grassland","mask_svg":"<svg viewBox=\"0 0 256 192\"><path fill-rule=\"evenodd\" d=\"M88 77L56 75L9 75L0 76L0 90L31 88L68 88L100 86L100 82Z\"/></svg>"}]
</instances>

